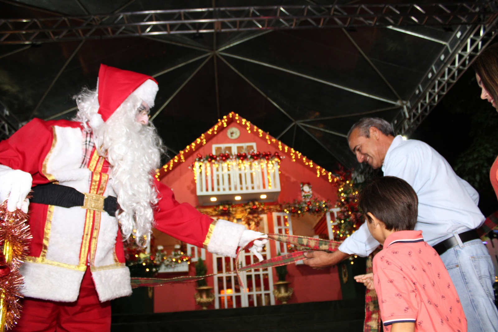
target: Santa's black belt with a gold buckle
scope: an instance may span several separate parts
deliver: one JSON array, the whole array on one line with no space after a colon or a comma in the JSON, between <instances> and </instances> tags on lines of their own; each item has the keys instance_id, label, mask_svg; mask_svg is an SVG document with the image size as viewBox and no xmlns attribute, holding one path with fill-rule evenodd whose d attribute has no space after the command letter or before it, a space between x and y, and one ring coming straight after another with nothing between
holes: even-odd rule
<instances>
[{"instance_id":1,"label":"Santa's black belt with a gold buckle","mask_svg":"<svg viewBox=\"0 0 498 332\"><path fill-rule=\"evenodd\" d=\"M81 206L88 210L107 212L115 217L119 208L118 199L114 196L104 196L82 193L73 187L61 184L39 184L32 188L32 203L56 205L62 207Z\"/></svg>"}]
</instances>

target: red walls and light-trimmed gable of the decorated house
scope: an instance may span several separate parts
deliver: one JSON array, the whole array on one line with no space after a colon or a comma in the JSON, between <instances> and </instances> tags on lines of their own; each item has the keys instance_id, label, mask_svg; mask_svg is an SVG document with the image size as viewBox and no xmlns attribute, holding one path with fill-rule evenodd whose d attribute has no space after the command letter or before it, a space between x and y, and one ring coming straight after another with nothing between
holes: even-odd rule
<instances>
[{"instance_id":1,"label":"red walls and light-trimmed gable of the decorated house","mask_svg":"<svg viewBox=\"0 0 498 332\"><path fill-rule=\"evenodd\" d=\"M234 131L233 128L237 130ZM270 152L273 156L278 153L279 156L283 157L279 162L279 182L280 182L280 194L277 198L276 203L293 202L294 200L301 200L301 183L311 184L312 195L320 200L330 200L329 207L334 206L338 196L338 179L332 174L332 172L324 169L323 167L316 165L311 160L302 156L298 151L295 151L291 147L283 144L281 141L271 137L269 134L259 129L258 127L251 124L248 120L242 118L236 113L230 113L219 120L212 128L210 128L206 133L202 134L197 140L192 142L185 149L180 151L180 153L175 156L171 161L165 164L163 167L157 170L156 178L164 184L168 185L173 189L175 193L175 198L179 202L187 202L191 205L198 206L199 200L197 196L197 183L194 180L194 170L192 169L192 164L196 162L198 155L201 157L209 156L209 154L214 153L213 145L227 145L233 144L234 146L244 143L254 143L256 150L263 152ZM237 153L237 151L232 151ZM237 168L237 167L236 167ZM204 171L205 177L208 178L209 175L207 171ZM212 176L212 173L211 173ZM214 181L213 181L214 182ZM320 215L320 213L301 213L299 217L292 215L292 213L285 213L281 210L274 210L273 207L281 208L277 204L271 204L275 202L266 202L264 200L258 200L260 203L265 203L264 206L268 207L266 212L258 215L260 217L260 223L256 224L257 230L265 233L279 233L279 234L294 234L299 236L315 236L319 234L327 235L327 227L330 227L330 222L332 220L327 219L325 216ZM222 202L217 202L222 203ZM243 207L244 204L237 204L232 206L235 208ZM270 203L270 204L267 204ZM303 203L303 202L300 202ZM216 204L216 203L215 203ZM306 204L304 202L304 204ZM203 206L198 207L198 210L202 213L214 216L210 212L216 212L215 210L224 205L220 204L214 206ZM263 205L263 204L261 204ZM237 210L236 210L237 211ZM232 220L236 213L230 212L231 215L220 216L216 214L216 218L226 218ZM294 217L295 216L295 217ZM239 217L236 217L239 219ZM252 217L251 217L252 218ZM241 222L245 222L250 228L253 224L250 223L251 218L241 218ZM318 224L320 221L322 223ZM237 220L239 222L239 220ZM286 228L289 232L282 230ZM252 228L250 228L252 229ZM320 233L316 233L316 231ZM154 237L157 239L156 243L161 243L165 247L169 244L177 243L176 239L167 238L165 234L161 234L154 231ZM270 241L266 246L266 257L275 257L278 253L282 253L281 246L285 246L283 243L277 243ZM214 273L215 271L220 272L219 264L220 262L227 261L225 259L220 259L215 255L206 254L206 265L209 267L208 273ZM268 285L260 289L269 290L271 289L272 280L276 280L275 270L268 269L270 277L266 278ZM333 267L327 270L313 270L304 265L291 264L288 265L289 277L288 281L292 283L292 287L295 292L292 298L294 303L310 302L310 301L331 301L340 300L341 295L341 284L339 282L339 272L337 267ZM191 269L190 275L193 275ZM220 284L222 279L208 279L210 286L219 287L218 296L223 298L222 291L224 287L229 288L229 286L224 286L223 283ZM189 286L177 287L187 288ZM264 285L264 284L263 284ZM324 289L323 285L327 285ZM176 286L176 285L175 285ZM166 286L172 287L172 286ZM191 293L193 292L193 286L190 285L189 299L191 298ZM248 287L249 289L249 287ZM168 291L170 288L168 288ZM232 289L231 289L232 291ZM166 291L164 291L166 292ZM170 292L170 291L169 291ZM185 297L184 293L178 296L178 298ZM164 294L164 293L161 293ZM168 293L169 294L169 293ZM272 295L269 295L272 296ZM158 295L156 301L162 301L165 297ZM216 300L215 300L216 301ZM228 301L228 300L227 300ZM269 301L269 300L268 300ZM268 302L266 302L268 303ZM159 305L156 305L159 307ZM179 311L179 310L189 310L186 308L191 308L186 305L185 307L179 308L176 304L171 304L171 301L164 301L161 303L161 311ZM192 310L192 309L190 309Z\"/></svg>"}]
</instances>

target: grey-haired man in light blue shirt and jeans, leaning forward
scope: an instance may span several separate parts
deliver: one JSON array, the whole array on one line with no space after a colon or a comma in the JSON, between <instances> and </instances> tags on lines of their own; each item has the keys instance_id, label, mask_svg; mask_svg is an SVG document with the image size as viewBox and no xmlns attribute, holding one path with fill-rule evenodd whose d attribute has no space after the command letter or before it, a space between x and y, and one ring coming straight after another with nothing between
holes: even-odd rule
<instances>
[{"instance_id":1,"label":"grey-haired man in light blue shirt and jeans, leaning forward","mask_svg":"<svg viewBox=\"0 0 498 332\"><path fill-rule=\"evenodd\" d=\"M348 133L348 143L358 162L404 179L417 193L415 230L421 230L424 240L441 256L458 290L468 331L498 331L495 271L475 231L485 220L477 206L477 191L429 145L395 137L383 119L358 121ZM314 268L332 266L350 255L368 256L378 245L364 224L339 250L308 253L304 263Z\"/></svg>"}]
</instances>

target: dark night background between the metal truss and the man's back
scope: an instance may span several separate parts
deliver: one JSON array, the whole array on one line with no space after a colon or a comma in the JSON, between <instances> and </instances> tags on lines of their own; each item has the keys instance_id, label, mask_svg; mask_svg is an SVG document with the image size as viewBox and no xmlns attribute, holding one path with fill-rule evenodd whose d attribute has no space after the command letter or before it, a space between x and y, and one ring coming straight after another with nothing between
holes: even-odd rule
<instances>
[{"instance_id":1,"label":"dark night background between the metal truss and the man's back","mask_svg":"<svg viewBox=\"0 0 498 332\"><path fill-rule=\"evenodd\" d=\"M489 180L498 155L498 114L480 94L475 72L469 69L409 138L432 146L454 169L467 158L468 172L457 169L457 174L478 189L479 207L488 216L498 210ZM473 178L467 176L469 172Z\"/></svg>"}]
</instances>

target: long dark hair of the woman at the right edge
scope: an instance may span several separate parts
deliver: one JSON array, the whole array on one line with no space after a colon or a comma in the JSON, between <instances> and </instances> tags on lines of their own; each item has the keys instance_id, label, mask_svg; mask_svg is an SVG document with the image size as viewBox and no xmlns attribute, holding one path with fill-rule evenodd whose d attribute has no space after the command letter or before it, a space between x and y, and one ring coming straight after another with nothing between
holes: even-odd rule
<instances>
[{"instance_id":1,"label":"long dark hair of the woman at the right edge","mask_svg":"<svg viewBox=\"0 0 498 332\"><path fill-rule=\"evenodd\" d=\"M481 77L482 86L498 103L498 43L486 47L476 58L472 68Z\"/></svg>"}]
</instances>

